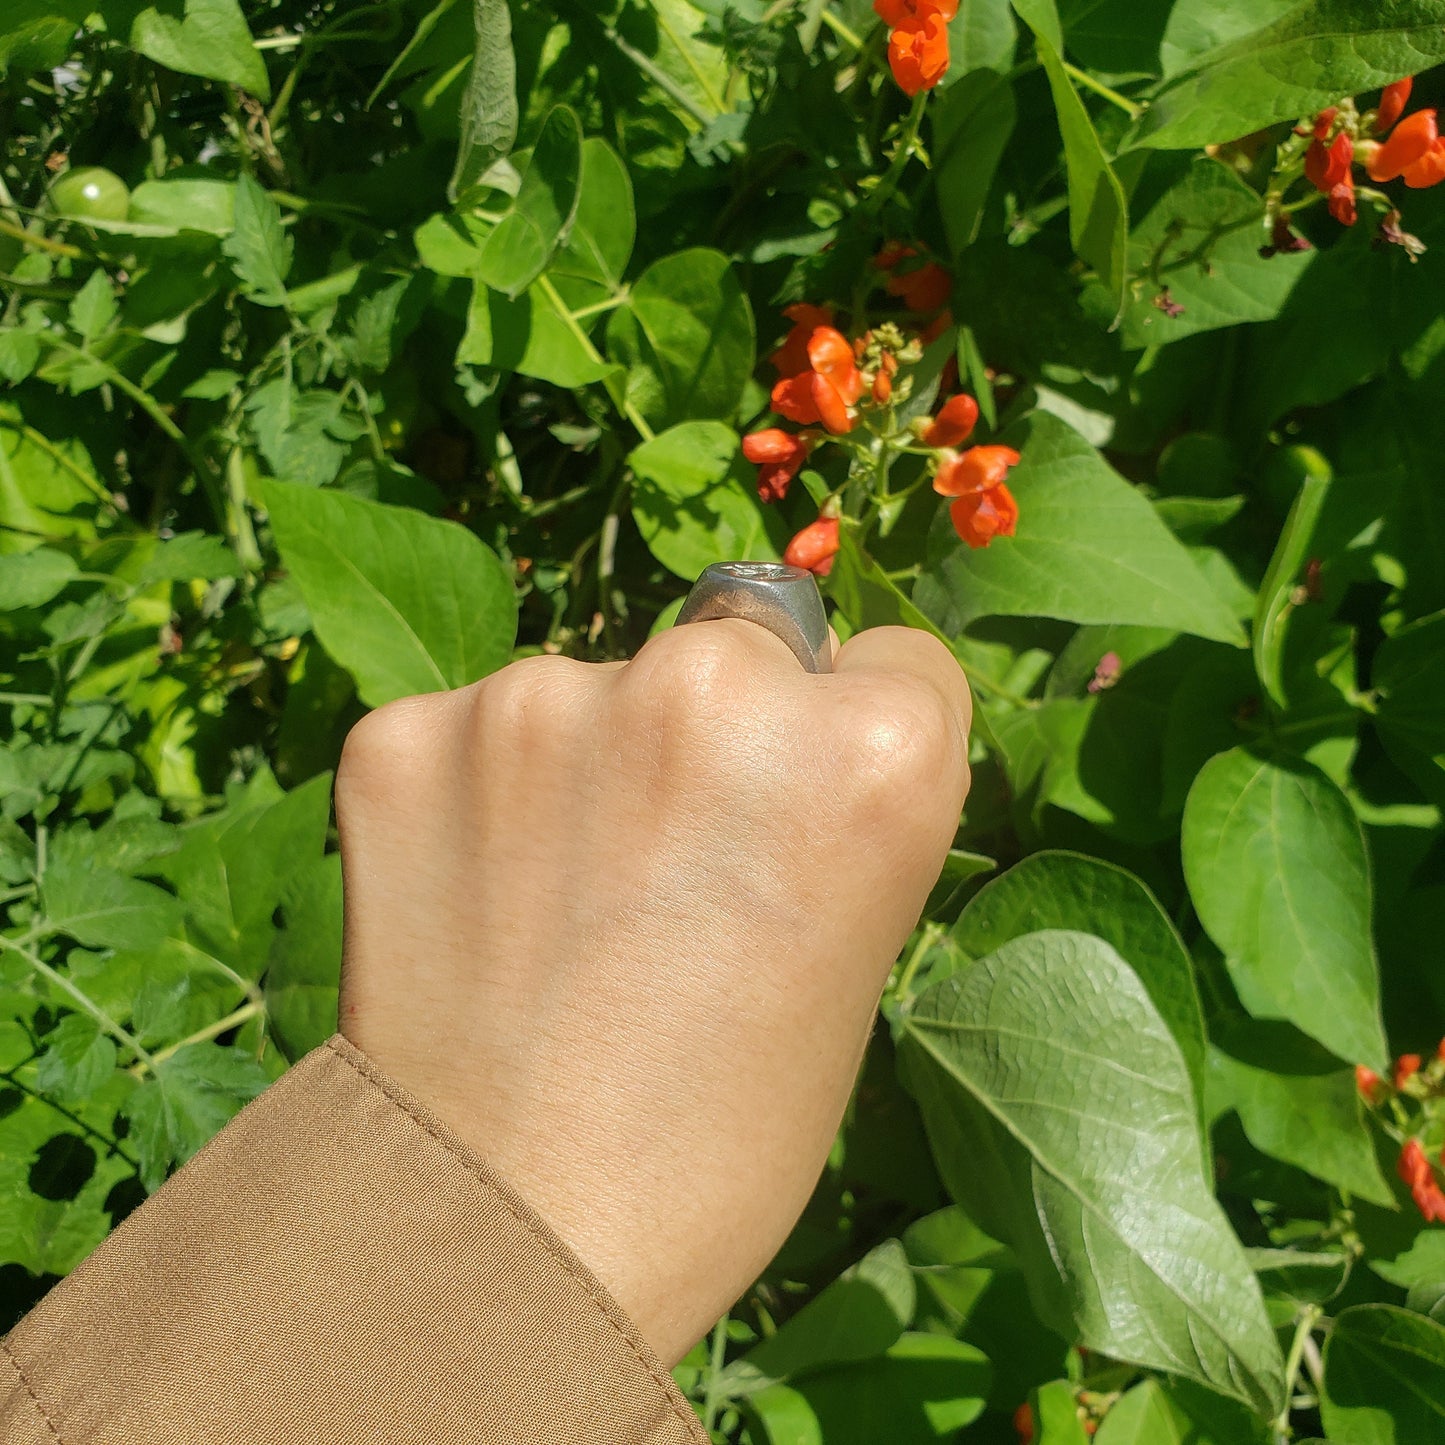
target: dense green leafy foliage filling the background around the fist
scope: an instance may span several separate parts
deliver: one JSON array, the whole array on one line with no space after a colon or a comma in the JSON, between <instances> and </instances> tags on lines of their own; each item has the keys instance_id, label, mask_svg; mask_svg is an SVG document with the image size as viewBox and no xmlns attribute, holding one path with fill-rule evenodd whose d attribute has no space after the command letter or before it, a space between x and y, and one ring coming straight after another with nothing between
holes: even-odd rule
<instances>
[{"instance_id":1,"label":"dense green leafy foliage filling the background around the fist","mask_svg":"<svg viewBox=\"0 0 1445 1445\"><path fill-rule=\"evenodd\" d=\"M1371 1114L1353 1065L1445 1032L1445 207L1418 260L1370 205L1259 249L1290 127L1428 72L1445 3L971 0L913 110L884 43L857 0L6 6L6 1318L329 1032L366 708L627 655L835 494L835 621L949 642L975 785L699 1415L1439 1433L1394 1156L1442 1066ZM59 214L66 163L129 199ZM764 507L737 454L783 305L916 324L899 238L955 319L903 415L952 357L1023 452L985 551L918 457Z\"/></svg>"}]
</instances>

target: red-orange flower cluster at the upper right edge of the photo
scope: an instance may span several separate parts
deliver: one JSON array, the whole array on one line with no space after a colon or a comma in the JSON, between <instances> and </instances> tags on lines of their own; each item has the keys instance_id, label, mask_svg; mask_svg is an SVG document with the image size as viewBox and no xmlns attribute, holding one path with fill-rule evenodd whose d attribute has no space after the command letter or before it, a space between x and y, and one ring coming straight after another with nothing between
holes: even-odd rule
<instances>
[{"instance_id":1,"label":"red-orange flower cluster at the upper right edge of the photo","mask_svg":"<svg viewBox=\"0 0 1445 1445\"><path fill-rule=\"evenodd\" d=\"M1412 85L1409 75L1386 85L1373 116L1358 116L1353 103L1329 105L1302 131L1311 136L1305 176L1328 197L1329 214L1341 225L1354 225L1357 220L1355 166L1364 166L1376 185L1403 181L1419 191L1445 181L1445 137L1436 127L1435 111L1405 116Z\"/></svg>"}]
</instances>

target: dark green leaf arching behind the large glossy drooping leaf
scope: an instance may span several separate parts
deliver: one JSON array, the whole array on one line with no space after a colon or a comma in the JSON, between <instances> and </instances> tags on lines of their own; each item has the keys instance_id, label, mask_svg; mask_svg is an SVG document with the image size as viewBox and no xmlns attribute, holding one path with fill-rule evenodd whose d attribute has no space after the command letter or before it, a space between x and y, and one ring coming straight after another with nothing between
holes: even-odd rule
<instances>
[{"instance_id":1,"label":"dark green leaf arching behind the large glossy drooping leaf","mask_svg":"<svg viewBox=\"0 0 1445 1445\"><path fill-rule=\"evenodd\" d=\"M1103 858L1036 853L985 883L970 899L949 936L964 957L983 958L1039 929L1092 933L1134 970L1179 1045L1194 1098L1202 1108L1208 1043L1194 964L1153 893L1134 874Z\"/></svg>"}]
</instances>

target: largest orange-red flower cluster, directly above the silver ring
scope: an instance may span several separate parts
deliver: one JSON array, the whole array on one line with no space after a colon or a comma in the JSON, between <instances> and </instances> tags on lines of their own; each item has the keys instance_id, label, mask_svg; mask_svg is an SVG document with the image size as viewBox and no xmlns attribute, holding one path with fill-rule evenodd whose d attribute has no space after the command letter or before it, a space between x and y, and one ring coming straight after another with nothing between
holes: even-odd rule
<instances>
[{"instance_id":1,"label":"largest orange-red flower cluster, directly above the silver ring","mask_svg":"<svg viewBox=\"0 0 1445 1445\"><path fill-rule=\"evenodd\" d=\"M889 273L884 286L909 311L938 312L925 331L909 340L893 322L866 331L854 341L834 325L829 306L796 302L783 315L792 324L782 344L767 358L777 371L772 407L801 431L764 426L743 438L743 455L757 467L757 494L763 501L782 501L814 448L838 441L867 455L876 473L876 458L903 451L929 457L933 490L952 500L949 516L959 538L972 548L988 546L994 538L1013 536L1019 506L1009 491L1009 470L1019 462L1012 447L968 447L978 422L978 403L967 393L948 396L932 418L919 418L899 428L894 405L905 400L910 379L896 383L899 368L922 360L923 342L951 324L945 302L952 277L936 262L899 272L900 263L916 259L912 247L890 244L874 260ZM954 367L945 367L945 387ZM896 384L900 390L896 392ZM863 426L866 436L853 434ZM886 473L884 465L884 473ZM881 499L876 499L881 500ZM788 545L785 561L827 577L838 552L842 504L829 497L818 520L809 523Z\"/></svg>"}]
</instances>

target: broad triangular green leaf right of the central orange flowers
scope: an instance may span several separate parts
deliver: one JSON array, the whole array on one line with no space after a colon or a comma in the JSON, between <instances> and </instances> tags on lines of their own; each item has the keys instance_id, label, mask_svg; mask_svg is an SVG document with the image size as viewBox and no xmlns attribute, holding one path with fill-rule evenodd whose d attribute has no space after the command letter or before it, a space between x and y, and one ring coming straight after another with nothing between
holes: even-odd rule
<instances>
[{"instance_id":1,"label":"broad triangular green leaf right of the central orange flowers","mask_svg":"<svg viewBox=\"0 0 1445 1445\"><path fill-rule=\"evenodd\" d=\"M913 600L945 631L977 617L1130 623L1244 644L1238 623L1155 509L1068 423L1036 413L1009 477L1019 532L957 542ZM946 510L935 538L952 538Z\"/></svg>"}]
</instances>

